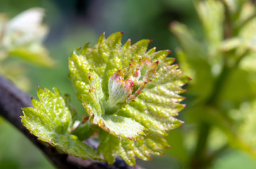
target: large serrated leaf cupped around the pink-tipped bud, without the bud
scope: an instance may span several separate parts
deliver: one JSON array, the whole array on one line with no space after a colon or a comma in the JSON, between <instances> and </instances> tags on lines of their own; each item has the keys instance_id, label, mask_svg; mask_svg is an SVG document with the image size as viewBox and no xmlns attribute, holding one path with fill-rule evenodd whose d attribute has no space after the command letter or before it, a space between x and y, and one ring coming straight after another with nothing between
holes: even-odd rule
<instances>
[{"instance_id":1,"label":"large serrated leaf cupped around the pink-tipped bud, without the bud","mask_svg":"<svg viewBox=\"0 0 256 169\"><path fill-rule=\"evenodd\" d=\"M188 77L182 75L177 65L170 65L174 59L165 58L168 51L155 52L153 48L146 52L151 41L145 39L131 46L128 40L121 47L121 39L120 32L110 35L107 39L102 35L93 48L88 48L86 44L80 54L74 51L71 55L69 78L74 84L79 101L90 116L91 123L100 125L103 130L116 137L135 139L140 137L146 128L159 134L166 134L165 130L178 127L182 123L173 116L178 115L184 108L179 104L183 100L179 94L184 92L181 87L187 82ZM109 94L109 78L117 70L127 68L131 59L139 63L145 56L151 58L151 63L159 62L156 74L145 85L144 93L113 114L120 118L125 116L134 121L134 125L141 127L130 130L131 134L122 133L120 131L127 127L125 123L117 123L112 118L110 125L110 119L105 119L108 115L105 114L105 104Z\"/></svg>"}]
</instances>

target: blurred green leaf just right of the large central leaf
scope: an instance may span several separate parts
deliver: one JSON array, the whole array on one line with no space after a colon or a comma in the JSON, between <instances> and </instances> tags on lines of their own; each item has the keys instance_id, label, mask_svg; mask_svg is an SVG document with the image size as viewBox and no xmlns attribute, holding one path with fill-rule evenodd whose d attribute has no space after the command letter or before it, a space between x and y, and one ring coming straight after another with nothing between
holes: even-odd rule
<instances>
[{"instance_id":1,"label":"blurred green leaf just right of the large central leaf","mask_svg":"<svg viewBox=\"0 0 256 169\"><path fill-rule=\"evenodd\" d=\"M209 59L206 43L199 42L185 25L174 23L170 30L180 42L180 49L176 52L180 66L193 79L188 91L197 94L198 102L204 101L211 94L214 75L219 74L221 63L216 63L216 70Z\"/></svg>"}]
</instances>

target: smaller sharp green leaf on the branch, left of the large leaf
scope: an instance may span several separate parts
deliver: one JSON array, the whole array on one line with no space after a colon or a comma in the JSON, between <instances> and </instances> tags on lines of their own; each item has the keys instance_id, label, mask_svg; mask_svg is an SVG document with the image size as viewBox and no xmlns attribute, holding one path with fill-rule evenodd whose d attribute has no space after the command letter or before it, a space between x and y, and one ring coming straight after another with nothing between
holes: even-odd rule
<instances>
[{"instance_id":1,"label":"smaller sharp green leaf on the branch, left of the large leaf","mask_svg":"<svg viewBox=\"0 0 256 169\"><path fill-rule=\"evenodd\" d=\"M69 99L61 96L58 89L54 92L38 88L37 96L40 101L32 99L35 108L23 108L22 123L32 134L43 142L62 149L67 154L81 158L99 159L95 151L83 144L75 135L70 134L73 110L70 109Z\"/></svg>"}]
</instances>

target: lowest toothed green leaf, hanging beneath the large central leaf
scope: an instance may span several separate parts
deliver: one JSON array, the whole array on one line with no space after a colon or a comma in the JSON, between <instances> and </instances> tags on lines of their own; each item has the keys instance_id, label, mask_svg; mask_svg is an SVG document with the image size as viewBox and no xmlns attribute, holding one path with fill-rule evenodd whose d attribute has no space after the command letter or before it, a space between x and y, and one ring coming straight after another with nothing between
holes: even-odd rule
<instances>
[{"instance_id":1,"label":"lowest toothed green leaf, hanging beneath the large central leaf","mask_svg":"<svg viewBox=\"0 0 256 169\"><path fill-rule=\"evenodd\" d=\"M123 158L129 165L135 165L135 156L149 161L151 160L150 154L159 156L163 154L161 149L170 148L165 139L160 134L154 132L147 133L144 138L127 140L101 131L100 139L102 142L98 146L98 153L103 154L109 164L115 162L115 155L117 155Z\"/></svg>"}]
</instances>

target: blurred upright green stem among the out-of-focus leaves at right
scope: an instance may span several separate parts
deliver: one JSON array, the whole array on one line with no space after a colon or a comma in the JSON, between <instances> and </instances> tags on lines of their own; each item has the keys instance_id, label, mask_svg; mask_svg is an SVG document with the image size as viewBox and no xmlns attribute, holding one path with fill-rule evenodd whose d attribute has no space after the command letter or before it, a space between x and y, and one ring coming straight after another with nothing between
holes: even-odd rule
<instances>
[{"instance_id":1,"label":"blurred upright green stem among the out-of-focus leaves at right","mask_svg":"<svg viewBox=\"0 0 256 169\"><path fill-rule=\"evenodd\" d=\"M225 20L223 26L223 39L228 39L233 35L233 25L231 23L231 15L228 11L228 6L225 1L221 0L225 8ZM223 54L224 56L226 54ZM214 89L211 92L209 99L204 103L206 106L215 107L219 98L219 95L222 92L223 84L225 84L227 77L230 75L231 70L236 67L238 64L235 64L233 68L229 67L226 62L227 57L223 58L224 65L221 73L214 84ZM240 61L240 60L239 60ZM239 62L238 61L238 62ZM211 132L211 124L209 123L200 123L199 131L197 135L197 145L194 149L194 154L192 155L190 161L190 168L192 169L203 169L208 168L211 163L214 161L214 157L207 154L207 146L209 142L209 134ZM224 150L224 149L223 149Z\"/></svg>"}]
</instances>

